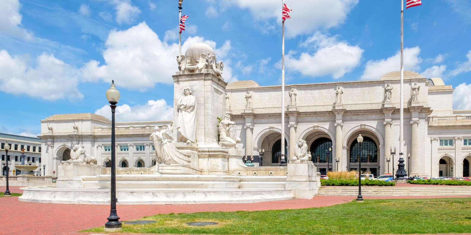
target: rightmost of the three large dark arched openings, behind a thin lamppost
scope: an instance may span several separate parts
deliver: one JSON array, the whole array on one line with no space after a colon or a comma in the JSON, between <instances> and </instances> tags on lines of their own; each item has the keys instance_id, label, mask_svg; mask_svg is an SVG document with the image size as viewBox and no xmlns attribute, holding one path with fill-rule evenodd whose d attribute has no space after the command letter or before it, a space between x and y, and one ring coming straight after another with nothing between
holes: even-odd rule
<instances>
[{"instance_id":1,"label":"rightmost of the three large dark arched openings, behind a thin lamppost","mask_svg":"<svg viewBox=\"0 0 471 235\"><path fill-rule=\"evenodd\" d=\"M359 133L358 133L359 134ZM358 162L361 160L361 171L371 172L374 176L380 175L379 156L380 149L378 140L370 133L361 133L363 142L360 144L357 141L358 134L352 135L349 149L349 170L358 171ZM361 157L360 157L361 156Z\"/></svg>"}]
</instances>

